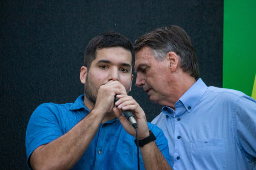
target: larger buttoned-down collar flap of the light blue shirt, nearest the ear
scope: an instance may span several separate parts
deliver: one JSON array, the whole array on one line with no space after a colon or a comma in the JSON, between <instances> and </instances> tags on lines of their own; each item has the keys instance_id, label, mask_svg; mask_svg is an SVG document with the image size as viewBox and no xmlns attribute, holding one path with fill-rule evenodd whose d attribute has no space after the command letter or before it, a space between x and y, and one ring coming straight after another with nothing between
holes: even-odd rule
<instances>
[{"instance_id":1,"label":"larger buttoned-down collar flap of the light blue shirt, nearest the ear","mask_svg":"<svg viewBox=\"0 0 256 170\"><path fill-rule=\"evenodd\" d=\"M204 84L201 78L199 78L195 84L193 84L179 99L190 113L196 106L198 101L202 98L204 92L207 90L207 85ZM176 102L177 103L177 102Z\"/></svg>"}]
</instances>

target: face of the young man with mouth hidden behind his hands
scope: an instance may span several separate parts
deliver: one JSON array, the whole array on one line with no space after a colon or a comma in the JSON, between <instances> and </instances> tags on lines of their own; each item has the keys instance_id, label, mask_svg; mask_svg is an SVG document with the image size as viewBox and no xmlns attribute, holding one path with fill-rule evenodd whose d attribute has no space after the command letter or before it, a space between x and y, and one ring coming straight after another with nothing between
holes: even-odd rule
<instances>
[{"instance_id":1,"label":"face of the young man with mouth hidden behind his hands","mask_svg":"<svg viewBox=\"0 0 256 170\"><path fill-rule=\"evenodd\" d=\"M86 75L85 96L87 99L95 103L99 87L110 80L119 81L128 94L131 91L133 79L131 60L131 52L122 47L97 50L96 58L91 62Z\"/></svg>"}]
</instances>

